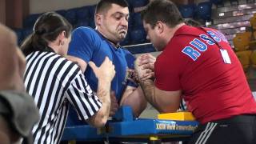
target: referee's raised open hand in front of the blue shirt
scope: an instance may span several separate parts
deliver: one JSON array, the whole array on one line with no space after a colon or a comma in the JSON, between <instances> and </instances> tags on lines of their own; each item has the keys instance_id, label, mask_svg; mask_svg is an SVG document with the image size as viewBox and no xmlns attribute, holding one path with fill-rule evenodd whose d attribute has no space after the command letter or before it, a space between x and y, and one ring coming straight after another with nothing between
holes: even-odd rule
<instances>
[{"instance_id":1,"label":"referee's raised open hand in front of the blue shirt","mask_svg":"<svg viewBox=\"0 0 256 144\"><path fill-rule=\"evenodd\" d=\"M102 62L101 66L96 66L94 62L88 62L89 66L94 70L95 76L98 80L106 80L107 82L111 82L115 75L114 65L110 58L106 57Z\"/></svg>"}]
</instances>

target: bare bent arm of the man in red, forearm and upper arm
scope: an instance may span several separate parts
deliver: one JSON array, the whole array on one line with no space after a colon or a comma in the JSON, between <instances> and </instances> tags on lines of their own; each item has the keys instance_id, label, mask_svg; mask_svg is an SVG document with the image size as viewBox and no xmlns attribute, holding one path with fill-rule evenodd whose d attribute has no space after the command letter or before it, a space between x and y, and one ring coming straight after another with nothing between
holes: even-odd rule
<instances>
[{"instance_id":1,"label":"bare bent arm of the man in red, forearm and upper arm","mask_svg":"<svg viewBox=\"0 0 256 144\"><path fill-rule=\"evenodd\" d=\"M160 113L170 113L178 110L181 101L181 90L164 91L154 86L154 81L140 81L145 98Z\"/></svg>"}]
</instances>

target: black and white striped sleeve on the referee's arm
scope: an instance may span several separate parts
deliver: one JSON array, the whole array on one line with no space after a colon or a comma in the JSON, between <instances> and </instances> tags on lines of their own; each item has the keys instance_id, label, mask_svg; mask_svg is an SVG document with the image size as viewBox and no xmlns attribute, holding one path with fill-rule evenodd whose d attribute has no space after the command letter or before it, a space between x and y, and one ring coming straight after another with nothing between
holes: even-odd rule
<instances>
[{"instance_id":1,"label":"black and white striped sleeve on the referee's arm","mask_svg":"<svg viewBox=\"0 0 256 144\"><path fill-rule=\"evenodd\" d=\"M102 102L90 89L81 70L70 82L66 96L77 111L79 118L84 121L97 113L102 106Z\"/></svg>"}]
</instances>

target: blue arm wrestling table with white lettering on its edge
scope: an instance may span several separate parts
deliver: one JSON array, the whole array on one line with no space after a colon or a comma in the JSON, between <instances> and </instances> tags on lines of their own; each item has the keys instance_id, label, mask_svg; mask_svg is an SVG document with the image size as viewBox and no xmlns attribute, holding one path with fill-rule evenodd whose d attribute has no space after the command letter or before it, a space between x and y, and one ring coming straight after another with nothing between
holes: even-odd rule
<instances>
[{"instance_id":1,"label":"blue arm wrestling table with white lettering on its edge","mask_svg":"<svg viewBox=\"0 0 256 144\"><path fill-rule=\"evenodd\" d=\"M134 118L130 106L122 106L106 126L97 129L86 124L68 122L62 141L175 142L186 141L198 126L196 121ZM73 122L72 122L73 121Z\"/></svg>"}]
</instances>

